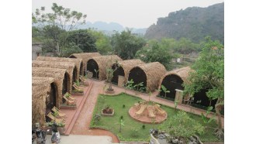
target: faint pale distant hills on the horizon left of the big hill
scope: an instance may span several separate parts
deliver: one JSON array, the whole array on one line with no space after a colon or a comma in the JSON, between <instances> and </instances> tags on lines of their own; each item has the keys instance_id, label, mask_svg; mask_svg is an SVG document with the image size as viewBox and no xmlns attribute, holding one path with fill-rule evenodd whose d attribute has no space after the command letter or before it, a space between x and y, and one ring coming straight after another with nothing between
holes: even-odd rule
<instances>
[{"instance_id":1,"label":"faint pale distant hills on the horizon left of the big hill","mask_svg":"<svg viewBox=\"0 0 256 144\"><path fill-rule=\"evenodd\" d=\"M100 30L106 34L112 34L113 31L118 31L121 32L123 30L125 30L125 28L120 25L119 23L116 22L86 22L85 25L79 26L78 29L96 29L96 30ZM141 34L144 35L146 33L147 28L144 29L136 29L136 28L129 28L132 29L132 33L137 33L137 34Z\"/></svg>"}]
</instances>

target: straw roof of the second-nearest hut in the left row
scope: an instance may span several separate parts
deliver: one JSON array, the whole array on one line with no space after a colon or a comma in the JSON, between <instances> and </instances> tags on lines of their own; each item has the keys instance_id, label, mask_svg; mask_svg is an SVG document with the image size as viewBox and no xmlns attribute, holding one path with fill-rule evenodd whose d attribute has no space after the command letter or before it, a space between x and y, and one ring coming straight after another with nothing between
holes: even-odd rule
<instances>
[{"instance_id":1,"label":"straw roof of the second-nearest hut in the left row","mask_svg":"<svg viewBox=\"0 0 256 144\"><path fill-rule=\"evenodd\" d=\"M47 67L32 67L32 77L53 77L54 82L57 85L57 107L61 105L61 99L62 99L62 84L64 79L64 74L67 73L67 70L65 69L56 69L56 68L47 68ZM67 73L69 76L69 74ZM70 76L69 80L67 80L68 87L70 82ZM71 89L68 88L67 91L71 93Z\"/></svg>"}]
</instances>

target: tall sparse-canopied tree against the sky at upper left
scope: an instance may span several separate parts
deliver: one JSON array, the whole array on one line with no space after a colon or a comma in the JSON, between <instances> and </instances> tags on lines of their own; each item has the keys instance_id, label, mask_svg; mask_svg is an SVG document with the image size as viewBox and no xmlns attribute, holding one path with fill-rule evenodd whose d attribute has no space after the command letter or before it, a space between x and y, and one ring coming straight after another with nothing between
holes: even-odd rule
<instances>
[{"instance_id":1,"label":"tall sparse-canopied tree against the sky at upper left","mask_svg":"<svg viewBox=\"0 0 256 144\"><path fill-rule=\"evenodd\" d=\"M39 27L42 31L43 28L48 26L46 29L52 29L57 35L48 35L54 43L54 52L57 55L61 55L60 39L59 35L64 31L71 31L75 29L78 25L85 24L86 15L81 12L71 11L71 9L66 9L61 5L53 3L52 13L45 13L45 7L36 9L36 12L32 14L32 22L34 26ZM59 30L61 29L61 30ZM48 31L49 32L49 31ZM50 42L50 41L48 41Z\"/></svg>"}]
</instances>

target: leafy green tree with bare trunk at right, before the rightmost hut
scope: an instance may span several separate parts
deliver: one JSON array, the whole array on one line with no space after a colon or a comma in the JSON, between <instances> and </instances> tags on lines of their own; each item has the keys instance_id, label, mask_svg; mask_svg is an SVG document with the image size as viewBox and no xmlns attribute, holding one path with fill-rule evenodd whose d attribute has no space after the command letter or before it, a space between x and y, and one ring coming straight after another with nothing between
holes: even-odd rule
<instances>
[{"instance_id":1,"label":"leafy green tree with bare trunk at right, before the rightmost hut","mask_svg":"<svg viewBox=\"0 0 256 144\"><path fill-rule=\"evenodd\" d=\"M213 41L209 36L202 44L199 59L192 66L194 70L189 74L189 82L185 82L185 94L193 95L202 89L208 88L207 97L217 100L215 105L218 117L216 135L223 138L220 109L224 105L224 48L219 41Z\"/></svg>"}]
</instances>

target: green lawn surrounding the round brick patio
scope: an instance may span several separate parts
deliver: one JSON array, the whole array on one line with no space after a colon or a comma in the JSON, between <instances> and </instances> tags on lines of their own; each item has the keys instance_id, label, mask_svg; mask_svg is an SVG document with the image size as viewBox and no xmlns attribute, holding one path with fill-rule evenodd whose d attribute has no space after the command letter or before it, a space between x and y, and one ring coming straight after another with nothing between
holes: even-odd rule
<instances>
[{"instance_id":1,"label":"green lawn surrounding the round brick patio","mask_svg":"<svg viewBox=\"0 0 256 144\"><path fill-rule=\"evenodd\" d=\"M103 95L99 95L97 104L95 105L94 115L100 113L103 105L109 105L110 108L114 108L115 115L113 117L101 117L99 122L94 122L92 120L91 127L98 127L103 129L108 129L109 131L115 133L119 136L121 141L137 141L137 142L148 142L150 139L150 129L158 127L168 127L168 122L163 122L161 124L151 125L143 124L130 118L128 114L129 109L137 103L138 101L143 101L140 98L133 97L129 94L119 94L117 96L104 96L105 100L102 99ZM123 108L125 105L125 108ZM162 105L163 108L168 113L168 118L172 115L175 115L177 111L174 108L170 108ZM123 115L124 126L122 131L119 132L119 118ZM189 113L189 116L196 121L200 122L202 125L206 125L202 122L202 118L198 115L193 115ZM142 125L145 125L145 129L142 128ZM207 124L210 127L216 127L215 122ZM204 142L213 142L218 141L213 135L213 130L207 130L204 135L199 135L202 141Z\"/></svg>"}]
</instances>

